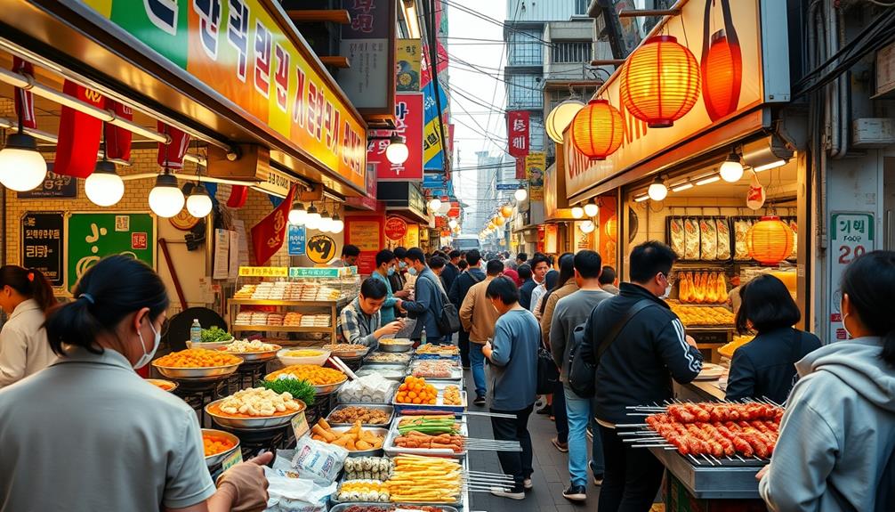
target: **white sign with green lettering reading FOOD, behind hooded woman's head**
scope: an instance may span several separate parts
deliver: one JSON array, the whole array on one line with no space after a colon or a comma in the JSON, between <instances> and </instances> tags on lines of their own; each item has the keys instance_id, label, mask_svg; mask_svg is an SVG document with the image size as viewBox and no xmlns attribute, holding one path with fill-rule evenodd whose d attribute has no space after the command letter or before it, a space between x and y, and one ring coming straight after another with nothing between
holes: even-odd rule
<instances>
[{"instance_id":1,"label":"white sign with green lettering reading FOOD, behind hooded woman's head","mask_svg":"<svg viewBox=\"0 0 895 512\"><path fill-rule=\"evenodd\" d=\"M839 289L842 273L848 264L858 256L875 248L874 214L870 212L834 212L830 218L831 236L831 288L836 292L830 296L830 334L827 342L847 339L848 333L842 323L842 291Z\"/></svg>"}]
</instances>

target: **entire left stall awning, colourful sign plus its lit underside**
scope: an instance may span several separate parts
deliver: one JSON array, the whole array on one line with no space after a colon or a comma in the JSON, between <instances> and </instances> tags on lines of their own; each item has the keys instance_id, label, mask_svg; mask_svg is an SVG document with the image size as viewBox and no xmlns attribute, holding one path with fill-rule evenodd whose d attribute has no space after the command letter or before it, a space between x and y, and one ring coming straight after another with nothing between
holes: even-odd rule
<instances>
[{"instance_id":1,"label":"entire left stall awning, colourful sign plus its lit underside","mask_svg":"<svg viewBox=\"0 0 895 512\"><path fill-rule=\"evenodd\" d=\"M336 192L365 193L367 126L280 5L222 5L186 15L166 2L15 0L0 10L0 47L196 134L267 146L271 161Z\"/></svg>"}]
</instances>

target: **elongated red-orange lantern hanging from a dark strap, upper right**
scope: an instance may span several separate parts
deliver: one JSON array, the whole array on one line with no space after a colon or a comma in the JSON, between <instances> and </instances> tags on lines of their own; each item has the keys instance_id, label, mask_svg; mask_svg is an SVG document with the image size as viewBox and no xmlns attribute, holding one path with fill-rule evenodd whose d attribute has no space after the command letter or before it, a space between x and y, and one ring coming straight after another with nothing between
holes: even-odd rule
<instances>
[{"instance_id":1,"label":"elongated red-orange lantern hanging from a dark strap, upper right","mask_svg":"<svg viewBox=\"0 0 895 512\"><path fill-rule=\"evenodd\" d=\"M724 30L712 35L712 45L703 56L703 103L712 121L737 110L743 85L743 55L736 40Z\"/></svg>"}]
</instances>

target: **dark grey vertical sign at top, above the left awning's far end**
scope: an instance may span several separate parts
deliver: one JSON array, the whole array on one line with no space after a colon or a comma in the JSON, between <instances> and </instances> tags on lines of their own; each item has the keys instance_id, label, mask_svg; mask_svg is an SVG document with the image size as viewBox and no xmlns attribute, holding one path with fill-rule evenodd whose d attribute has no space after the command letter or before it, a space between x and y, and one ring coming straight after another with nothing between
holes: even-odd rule
<instances>
[{"instance_id":1,"label":"dark grey vertical sign at top, above the left awning's far end","mask_svg":"<svg viewBox=\"0 0 895 512\"><path fill-rule=\"evenodd\" d=\"M361 112L391 115L395 108L396 2L345 2L351 23L342 25L339 55L351 62L338 82Z\"/></svg>"}]
</instances>

